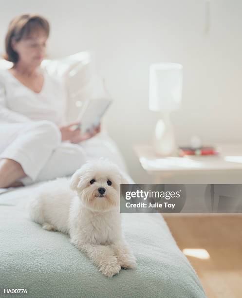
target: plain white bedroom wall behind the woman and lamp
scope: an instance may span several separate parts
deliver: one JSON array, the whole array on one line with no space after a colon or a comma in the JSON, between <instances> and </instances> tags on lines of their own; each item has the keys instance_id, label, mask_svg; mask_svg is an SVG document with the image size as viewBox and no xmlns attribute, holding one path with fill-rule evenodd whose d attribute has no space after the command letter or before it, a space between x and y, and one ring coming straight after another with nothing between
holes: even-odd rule
<instances>
[{"instance_id":1,"label":"plain white bedroom wall behind the woman and lamp","mask_svg":"<svg viewBox=\"0 0 242 298\"><path fill-rule=\"evenodd\" d=\"M132 151L149 143L158 115L148 110L149 64L184 65L182 109L172 114L179 144L193 134L205 144L242 141L242 1L0 0L0 52L10 19L34 12L52 25L50 56L91 49L115 98L109 131L132 177L149 182Z\"/></svg>"}]
</instances>

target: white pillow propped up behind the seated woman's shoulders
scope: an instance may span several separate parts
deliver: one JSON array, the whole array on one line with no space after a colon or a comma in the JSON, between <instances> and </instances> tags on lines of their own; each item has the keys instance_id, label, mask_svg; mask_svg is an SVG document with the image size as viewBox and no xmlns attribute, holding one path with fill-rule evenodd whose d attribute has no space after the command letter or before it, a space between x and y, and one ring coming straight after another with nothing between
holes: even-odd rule
<instances>
[{"instance_id":1,"label":"white pillow propped up behind the seated woman's shoulders","mask_svg":"<svg viewBox=\"0 0 242 298\"><path fill-rule=\"evenodd\" d=\"M12 62L0 59L0 69L11 68ZM74 121L79 114L82 102L93 92L94 71L89 52L59 59L45 59L41 64L49 75L63 79L68 91L68 121Z\"/></svg>"}]
</instances>

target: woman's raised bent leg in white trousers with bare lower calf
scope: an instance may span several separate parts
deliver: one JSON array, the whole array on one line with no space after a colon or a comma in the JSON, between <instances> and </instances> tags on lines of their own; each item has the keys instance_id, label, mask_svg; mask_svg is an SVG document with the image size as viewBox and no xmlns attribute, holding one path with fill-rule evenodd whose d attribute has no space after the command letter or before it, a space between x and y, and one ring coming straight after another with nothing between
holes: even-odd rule
<instances>
[{"instance_id":1,"label":"woman's raised bent leg in white trousers with bare lower calf","mask_svg":"<svg viewBox=\"0 0 242 298\"><path fill-rule=\"evenodd\" d=\"M0 187L7 187L24 176L34 181L61 143L58 127L49 121L6 124L1 129L0 139L5 149L0 154Z\"/></svg>"}]
</instances>

